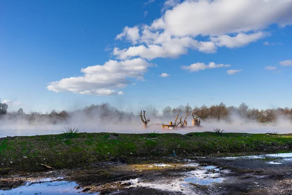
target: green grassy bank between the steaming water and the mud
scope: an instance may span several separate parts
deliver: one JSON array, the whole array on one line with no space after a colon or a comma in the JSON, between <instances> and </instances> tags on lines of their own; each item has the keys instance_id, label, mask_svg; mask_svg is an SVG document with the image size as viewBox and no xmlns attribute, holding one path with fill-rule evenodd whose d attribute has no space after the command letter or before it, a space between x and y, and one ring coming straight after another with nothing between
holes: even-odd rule
<instances>
[{"instance_id":1,"label":"green grassy bank between the steaming water and the mud","mask_svg":"<svg viewBox=\"0 0 292 195\"><path fill-rule=\"evenodd\" d=\"M72 168L110 159L269 152L292 148L292 135L214 132L181 134L78 133L0 138L0 174L41 171L40 163Z\"/></svg>"}]
</instances>

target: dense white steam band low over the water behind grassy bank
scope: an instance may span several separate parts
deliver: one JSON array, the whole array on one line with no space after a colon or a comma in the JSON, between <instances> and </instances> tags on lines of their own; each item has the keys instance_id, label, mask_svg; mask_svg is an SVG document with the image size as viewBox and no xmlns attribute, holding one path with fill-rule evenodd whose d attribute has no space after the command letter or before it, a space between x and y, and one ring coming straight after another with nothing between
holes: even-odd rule
<instances>
[{"instance_id":1,"label":"dense white steam band low over the water behind grassy bank","mask_svg":"<svg viewBox=\"0 0 292 195\"><path fill-rule=\"evenodd\" d=\"M139 119L139 117L138 117ZM153 123L167 124L173 119L164 119L151 121ZM71 126L72 128L79 128L79 132L87 133L151 133L153 131L159 131L159 133L179 133L186 134L190 132L205 132L213 131L214 128L225 129L225 132L240 132L240 133L269 133L278 132L279 134L292 133L292 125L290 121L285 123L273 123L273 124L260 124L253 121L216 121L206 120L201 121L202 127L191 127L192 121L188 120L188 128L176 128L175 130L162 130L161 125L152 125L148 128L143 128L142 122L139 120L132 120L130 122L122 121L118 124L112 124L109 121L105 124L98 120L69 120L56 124L50 124L46 122L36 122L30 124L26 120L4 120L0 124L0 137L6 136L34 136L34 135L47 135L47 134L61 134L65 131L64 127Z\"/></svg>"}]
</instances>

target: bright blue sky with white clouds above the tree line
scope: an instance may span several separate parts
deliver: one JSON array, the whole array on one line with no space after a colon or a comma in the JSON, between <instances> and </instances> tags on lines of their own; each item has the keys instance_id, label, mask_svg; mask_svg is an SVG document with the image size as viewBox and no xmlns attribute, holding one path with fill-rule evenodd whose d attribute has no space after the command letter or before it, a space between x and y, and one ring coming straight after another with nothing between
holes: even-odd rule
<instances>
[{"instance_id":1,"label":"bright blue sky with white clouds above the tree line","mask_svg":"<svg viewBox=\"0 0 292 195\"><path fill-rule=\"evenodd\" d=\"M291 0L0 4L0 98L10 111L292 107Z\"/></svg>"}]
</instances>

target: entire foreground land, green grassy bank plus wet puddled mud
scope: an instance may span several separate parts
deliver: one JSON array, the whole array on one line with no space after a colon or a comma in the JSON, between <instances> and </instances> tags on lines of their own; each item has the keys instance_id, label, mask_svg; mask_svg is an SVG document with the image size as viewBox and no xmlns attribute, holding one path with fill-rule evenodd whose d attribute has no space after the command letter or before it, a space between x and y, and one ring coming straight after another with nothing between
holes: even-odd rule
<instances>
[{"instance_id":1,"label":"entire foreground land, green grassy bank plus wet puddled mud","mask_svg":"<svg viewBox=\"0 0 292 195\"><path fill-rule=\"evenodd\" d=\"M4 137L0 195L287 195L292 154L281 150L291 141L211 132Z\"/></svg>"}]
</instances>

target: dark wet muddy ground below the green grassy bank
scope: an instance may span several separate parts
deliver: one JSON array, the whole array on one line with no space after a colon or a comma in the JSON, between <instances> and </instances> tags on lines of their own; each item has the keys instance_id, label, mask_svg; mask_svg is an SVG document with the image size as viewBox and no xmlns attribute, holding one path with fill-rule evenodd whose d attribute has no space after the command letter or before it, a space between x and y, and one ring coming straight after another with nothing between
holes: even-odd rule
<instances>
[{"instance_id":1,"label":"dark wet muddy ground below the green grassy bank","mask_svg":"<svg viewBox=\"0 0 292 195\"><path fill-rule=\"evenodd\" d=\"M2 175L0 195L9 195L9 189L25 185L27 181L44 182L39 179L48 177L75 181L75 189L80 194L94 195L292 194L292 160L270 156L169 156L129 158L74 169Z\"/></svg>"}]
</instances>

